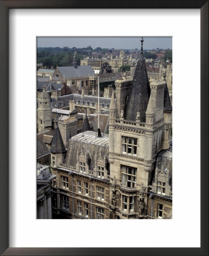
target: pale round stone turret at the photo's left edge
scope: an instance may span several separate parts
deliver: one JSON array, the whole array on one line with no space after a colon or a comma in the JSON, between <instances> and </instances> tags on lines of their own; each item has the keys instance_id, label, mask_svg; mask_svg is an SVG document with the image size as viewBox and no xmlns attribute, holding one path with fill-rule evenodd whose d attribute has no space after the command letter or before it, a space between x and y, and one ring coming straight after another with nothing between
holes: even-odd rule
<instances>
[{"instance_id":1,"label":"pale round stone turret at the photo's left edge","mask_svg":"<svg viewBox=\"0 0 209 256\"><path fill-rule=\"evenodd\" d=\"M50 106L50 96L44 89L37 93L37 126L38 133L46 129L52 129L52 109Z\"/></svg>"}]
</instances>

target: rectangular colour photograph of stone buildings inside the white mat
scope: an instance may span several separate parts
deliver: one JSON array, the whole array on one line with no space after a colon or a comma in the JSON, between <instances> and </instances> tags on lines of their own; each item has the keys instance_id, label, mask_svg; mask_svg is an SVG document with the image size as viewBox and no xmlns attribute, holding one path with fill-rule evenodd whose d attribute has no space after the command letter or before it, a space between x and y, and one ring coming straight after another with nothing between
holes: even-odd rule
<instances>
[{"instance_id":1,"label":"rectangular colour photograph of stone buildings inside the white mat","mask_svg":"<svg viewBox=\"0 0 209 256\"><path fill-rule=\"evenodd\" d=\"M172 37L37 37L37 219L172 219Z\"/></svg>"}]
</instances>

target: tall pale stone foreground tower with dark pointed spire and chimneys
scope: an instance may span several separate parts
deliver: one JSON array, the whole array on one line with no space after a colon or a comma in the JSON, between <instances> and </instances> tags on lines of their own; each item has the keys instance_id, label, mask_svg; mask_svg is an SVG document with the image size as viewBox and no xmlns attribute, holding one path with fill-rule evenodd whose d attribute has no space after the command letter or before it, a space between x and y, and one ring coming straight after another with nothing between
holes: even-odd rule
<instances>
[{"instance_id":1,"label":"tall pale stone foreground tower with dark pointed spire and chimneys","mask_svg":"<svg viewBox=\"0 0 209 256\"><path fill-rule=\"evenodd\" d=\"M150 85L143 38L141 43L131 88L126 80L116 81L116 102L112 95L109 108L110 196L116 218L147 217L147 192L162 149L165 81Z\"/></svg>"}]
</instances>

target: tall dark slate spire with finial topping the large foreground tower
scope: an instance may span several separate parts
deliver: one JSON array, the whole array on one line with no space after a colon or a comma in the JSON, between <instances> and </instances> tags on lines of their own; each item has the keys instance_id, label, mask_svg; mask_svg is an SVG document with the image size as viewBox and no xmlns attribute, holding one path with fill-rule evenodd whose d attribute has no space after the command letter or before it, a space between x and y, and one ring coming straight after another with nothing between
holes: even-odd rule
<instances>
[{"instance_id":1,"label":"tall dark slate spire with finial topping the large foreground tower","mask_svg":"<svg viewBox=\"0 0 209 256\"><path fill-rule=\"evenodd\" d=\"M143 39L141 40L143 46ZM143 48L139 55L135 69L131 93L125 105L124 117L135 121L137 112L140 113L140 121L146 122L146 110L150 98L150 82L147 76L146 64L144 62Z\"/></svg>"}]
</instances>

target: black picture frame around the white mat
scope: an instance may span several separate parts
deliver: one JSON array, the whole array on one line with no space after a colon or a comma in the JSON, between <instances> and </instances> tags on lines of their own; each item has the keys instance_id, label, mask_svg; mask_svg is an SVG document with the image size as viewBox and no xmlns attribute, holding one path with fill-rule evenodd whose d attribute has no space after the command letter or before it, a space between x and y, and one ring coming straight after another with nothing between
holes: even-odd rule
<instances>
[{"instance_id":1,"label":"black picture frame around the white mat","mask_svg":"<svg viewBox=\"0 0 209 256\"><path fill-rule=\"evenodd\" d=\"M116 8L201 9L201 247L198 248L10 248L8 247L8 9ZM38 0L0 1L0 253L1 255L208 255L208 1ZM194 53L193 53L194 54ZM192 121L191 121L192 122ZM194 135L195 136L195 135ZM191 209L193 206L191 205ZM191 213L192 214L192 213ZM194 216L195 218L195 216ZM191 223L192 228L192 223ZM152 240L152 237L148 238Z\"/></svg>"}]
</instances>

